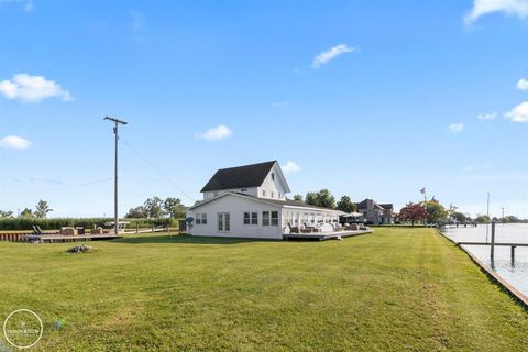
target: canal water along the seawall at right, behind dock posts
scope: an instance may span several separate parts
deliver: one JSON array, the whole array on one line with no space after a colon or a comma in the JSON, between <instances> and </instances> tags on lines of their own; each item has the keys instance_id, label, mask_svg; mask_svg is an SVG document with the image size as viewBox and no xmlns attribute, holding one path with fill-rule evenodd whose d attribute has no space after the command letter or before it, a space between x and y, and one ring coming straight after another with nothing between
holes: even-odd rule
<instances>
[{"instance_id":1,"label":"canal water along the seawall at right, behind dock posts","mask_svg":"<svg viewBox=\"0 0 528 352\"><path fill-rule=\"evenodd\" d=\"M486 242L485 224L480 224L476 228L446 228L442 229L442 233L455 242ZM492 226L490 224L487 242L491 242L491 239ZM495 242L528 243L528 223L497 223ZM490 260L488 245L464 245L464 248L528 296L528 246L518 246L515 250L514 261L512 261L509 246L495 246L493 265Z\"/></svg>"}]
</instances>

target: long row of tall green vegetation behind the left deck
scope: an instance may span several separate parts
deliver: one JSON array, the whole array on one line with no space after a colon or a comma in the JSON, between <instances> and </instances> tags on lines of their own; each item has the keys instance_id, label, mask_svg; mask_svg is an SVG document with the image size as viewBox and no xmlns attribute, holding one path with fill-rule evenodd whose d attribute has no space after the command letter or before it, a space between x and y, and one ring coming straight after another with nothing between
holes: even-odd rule
<instances>
[{"instance_id":1,"label":"long row of tall green vegetation behind the left deck","mask_svg":"<svg viewBox=\"0 0 528 352\"><path fill-rule=\"evenodd\" d=\"M0 219L1 230L33 230L33 224L40 226L42 230L58 230L63 227L82 227L85 229L94 229L94 227L105 228L105 223L113 221L112 218L55 218L55 219L36 219L36 218L4 218ZM173 227L177 228L178 219L125 219L130 223L127 229L151 228L154 227Z\"/></svg>"}]
</instances>

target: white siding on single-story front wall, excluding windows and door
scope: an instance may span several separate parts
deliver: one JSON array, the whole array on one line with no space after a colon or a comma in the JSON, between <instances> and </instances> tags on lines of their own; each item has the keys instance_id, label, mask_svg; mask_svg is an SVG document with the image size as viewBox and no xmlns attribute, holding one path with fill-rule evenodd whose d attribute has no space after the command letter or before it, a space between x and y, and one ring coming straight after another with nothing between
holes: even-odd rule
<instances>
[{"instance_id":1,"label":"white siding on single-story front wall, excluding windows and door","mask_svg":"<svg viewBox=\"0 0 528 352\"><path fill-rule=\"evenodd\" d=\"M262 226L263 211L277 211L278 226ZM218 213L229 212L231 230L229 232L218 231ZM244 212L257 212L258 224L244 224ZM282 211L279 206L266 205L235 195L227 195L196 209L189 210L187 217L196 219L196 213L207 213L207 224L196 224L188 231L193 235L208 237L233 237L233 238L257 238L257 239L283 239Z\"/></svg>"}]
</instances>

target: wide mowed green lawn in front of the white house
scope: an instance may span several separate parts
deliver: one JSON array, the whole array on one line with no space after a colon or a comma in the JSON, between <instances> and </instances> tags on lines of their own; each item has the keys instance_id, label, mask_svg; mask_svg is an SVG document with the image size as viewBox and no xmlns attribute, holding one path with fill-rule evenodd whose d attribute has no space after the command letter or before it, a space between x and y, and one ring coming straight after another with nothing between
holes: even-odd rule
<instances>
[{"instance_id":1,"label":"wide mowed green lawn in front of the white house","mask_svg":"<svg viewBox=\"0 0 528 352\"><path fill-rule=\"evenodd\" d=\"M528 314L431 229L329 242L0 242L0 320L41 351L527 351ZM54 321L63 319L57 329ZM3 336L2 336L3 339Z\"/></svg>"}]
</instances>

